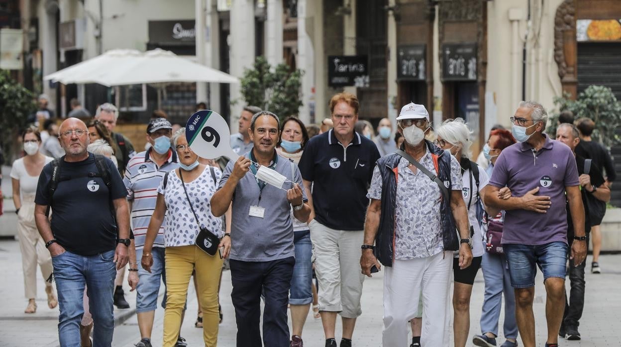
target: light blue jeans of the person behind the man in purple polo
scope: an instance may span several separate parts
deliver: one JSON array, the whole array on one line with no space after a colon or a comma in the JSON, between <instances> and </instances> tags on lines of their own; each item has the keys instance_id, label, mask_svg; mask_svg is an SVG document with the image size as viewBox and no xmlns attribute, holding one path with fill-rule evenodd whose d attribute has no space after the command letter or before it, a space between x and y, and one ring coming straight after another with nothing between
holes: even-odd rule
<instances>
[{"instance_id":1,"label":"light blue jeans of the person behind the man in purple polo","mask_svg":"<svg viewBox=\"0 0 621 347\"><path fill-rule=\"evenodd\" d=\"M485 279L481 333L492 333L498 336L498 320L501 316L502 295L504 295L504 337L517 338L515 294L513 287L511 287L507 257L483 253L481 269L483 269L483 278Z\"/></svg>"}]
</instances>

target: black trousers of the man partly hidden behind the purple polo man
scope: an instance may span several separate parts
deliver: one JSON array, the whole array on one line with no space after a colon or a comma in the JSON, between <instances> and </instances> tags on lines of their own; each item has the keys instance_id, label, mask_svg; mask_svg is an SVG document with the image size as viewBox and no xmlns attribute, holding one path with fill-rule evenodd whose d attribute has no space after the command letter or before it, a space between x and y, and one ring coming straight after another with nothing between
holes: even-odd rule
<instances>
[{"instance_id":1,"label":"black trousers of the man partly hidden behind the purple polo man","mask_svg":"<svg viewBox=\"0 0 621 347\"><path fill-rule=\"evenodd\" d=\"M589 245L589 234L586 239L587 247ZM571 251L571 250L570 250ZM568 259L571 253L568 252ZM574 266L574 261L569 259L569 300L567 293L565 293L565 312L563 312L563 325L565 327L576 327L580 325L580 318L582 318L582 310L584 310L584 287L586 281L584 281L584 268L586 266L586 259L582 261L582 264Z\"/></svg>"}]
</instances>

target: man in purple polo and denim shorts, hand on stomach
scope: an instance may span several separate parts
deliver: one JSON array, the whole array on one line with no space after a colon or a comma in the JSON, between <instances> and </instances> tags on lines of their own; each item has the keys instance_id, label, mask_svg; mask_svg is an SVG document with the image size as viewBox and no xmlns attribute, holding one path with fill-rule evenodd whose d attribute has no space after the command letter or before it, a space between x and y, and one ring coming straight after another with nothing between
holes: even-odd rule
<instances>
[{"instance_id":1,"label":"man in purple polo and denim shorts, hand on stomach","mask_svg":"<svg viewBox=\"0 0 621 347\"><path fill-rule=\"evenodd\" d=\"M576 159L564 143L543 133L548 115L537 102L522 101L511 117L513 135L520 142L502 151L489 181L485 202L506 211L502 244L515 289L515 318L525 347L535 346L536 266L546 287L546 347L558 346L564 310L567 212L569 202L575 226L570 258L580 264L586 257L584 207ZM499 199L502 187L513 197Z\"/></svg>"}]
</instances>

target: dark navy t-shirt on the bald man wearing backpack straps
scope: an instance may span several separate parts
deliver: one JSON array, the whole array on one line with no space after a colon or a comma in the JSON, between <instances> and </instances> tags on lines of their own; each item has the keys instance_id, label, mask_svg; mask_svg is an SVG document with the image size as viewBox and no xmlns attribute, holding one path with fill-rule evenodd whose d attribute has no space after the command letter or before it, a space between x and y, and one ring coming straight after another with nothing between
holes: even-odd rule
<instances>
[{"instance_id":1,"label":"dark navy t-shirt on the bald man wearing backpack straps","mask_svg":"<svg viewBox=\"0 0 621 347\"><path fill-rule=\"evenodd\" d=\"M52 202L52 233L58 243L77 255L90 256L116 248L117 225L112 215L111 199L127 195L125 184L114 163L106 160L111 179L109 192L101 176L93 153L88 159L60 163L60 179ZM35 203L50 205L49 184L52 163L43 167L37 185Z\"/></svg>"}]
</instances>

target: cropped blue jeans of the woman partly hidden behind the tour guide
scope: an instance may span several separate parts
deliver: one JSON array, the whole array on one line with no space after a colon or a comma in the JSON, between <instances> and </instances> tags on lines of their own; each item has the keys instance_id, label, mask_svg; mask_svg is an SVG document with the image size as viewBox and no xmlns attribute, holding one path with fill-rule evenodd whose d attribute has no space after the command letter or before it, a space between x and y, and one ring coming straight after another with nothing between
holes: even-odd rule
<instances>
[{"instance_id":1,"label":"cropped blue jeans of the woman partly hidden behind the tour guide","mask_svg":"<svg viewBox=\"0 0 621 347\"><path fill-rule=\"evenodd\" d=\"M312 302L311 230L302 230L293 234L296 264L293 266L293 277L291 277L289 304L307 305Z\"/></svg>"}]
</instances>

